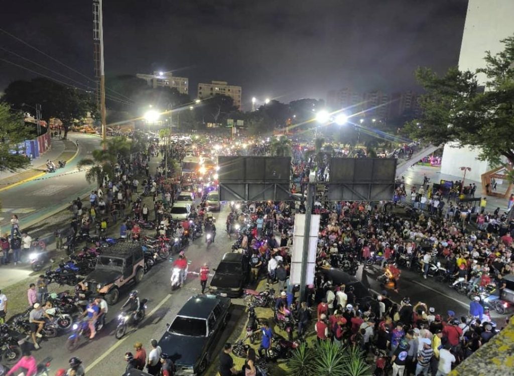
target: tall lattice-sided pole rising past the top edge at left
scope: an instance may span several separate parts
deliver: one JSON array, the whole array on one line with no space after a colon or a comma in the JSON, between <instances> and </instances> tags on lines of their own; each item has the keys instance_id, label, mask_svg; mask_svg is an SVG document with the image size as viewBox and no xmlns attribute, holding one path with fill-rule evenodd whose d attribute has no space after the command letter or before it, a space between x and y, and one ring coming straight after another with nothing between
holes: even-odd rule
<instances>
[{"instance_id":1,"label":"tall lattice-sided pole rising past the top edge at left","mask_svg":"<svg viewBox=\"0 0 514 376\"><path fill-rule=\"evenodd\" d=\"M97 79L97 105L100 107L100 119L102 122L102 140L105 149L105 70L103 61L103 14L102 0L93 0L93 40L95 61L95 77Z\"/></svg>"}]
</instances>

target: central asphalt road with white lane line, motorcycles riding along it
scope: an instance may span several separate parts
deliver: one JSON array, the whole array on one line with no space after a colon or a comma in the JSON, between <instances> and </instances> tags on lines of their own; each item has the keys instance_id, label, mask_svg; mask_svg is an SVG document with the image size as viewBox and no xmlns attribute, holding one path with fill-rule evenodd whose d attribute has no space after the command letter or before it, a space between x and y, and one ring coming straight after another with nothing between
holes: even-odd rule
<instances>
[{"instance_id":1,"label":"central asphalt road with white lane line, motorcycles riding along it","mask_svg":"<svg viewBox=\"0 0 514 376\"><path fill-rule=\"evenodd\" d=\"M217 218L216 223L218 226L215 242L209 250L206 249L205 236L195 240L188 247L186 256L192 261L189 265L190 272L197 272L204 262L208 262L212 271L212 268L217 266L223 254L231 250L233 240L229 240L226 232L223 230L227 213L228 207L224 206L220 213L214 214L215 218ZM201 292L199 279L196 274L189 273L185 285L173 292L171 291L170 277L171 261L165 260L160 262L144 276L143 281L138 286L132 285L126 290L122 290L120 302L113 307L109 307L107 315L108 324L97 334L93 341L84 341L77 350L69 353L64 346L67 334L63 333L63 335L55 339L43 342L41 349L34 352L36 359L40 360L45 356L52 356L53 362L51 367L53 370L56 370L64 368L71 356L78 356L84 362L86 374L123 374L125 352L133 351L135 342L142 342L148 353L150 351L150 341L152 339L159 340L162 333L166 330L166 324L172 322L186 300L190 296ZM141 298L149 299L148 310L144 321L137 330L128 331L121 340L117 340L114 336L114 330L117 325L117 313L125 301L124 298L127 292L131 289L137 289ZM241 307L234 306L231 323L229 323L225 331L226 336L230 334L230 328L242 313ZM219 341L219 346L222 345L223 341Z\"/></svg>"}]
</instances>

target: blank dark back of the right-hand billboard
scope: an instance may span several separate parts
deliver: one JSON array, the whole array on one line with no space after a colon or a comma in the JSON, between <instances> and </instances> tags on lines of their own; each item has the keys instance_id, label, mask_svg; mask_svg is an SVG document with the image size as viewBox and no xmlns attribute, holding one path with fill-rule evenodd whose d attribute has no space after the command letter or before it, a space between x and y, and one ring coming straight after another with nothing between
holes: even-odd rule
<instances>
[{"instance_id":1,"label":"blank dark back of the right-hand billboard","mask_svg":"<svg viewBox=\"0 0 514 376\"><path fill-rule=\"evenodd\" d=\"M395 158L331 158L327 197L332 201L391 200Z\"/></svg>"}]
</instances>

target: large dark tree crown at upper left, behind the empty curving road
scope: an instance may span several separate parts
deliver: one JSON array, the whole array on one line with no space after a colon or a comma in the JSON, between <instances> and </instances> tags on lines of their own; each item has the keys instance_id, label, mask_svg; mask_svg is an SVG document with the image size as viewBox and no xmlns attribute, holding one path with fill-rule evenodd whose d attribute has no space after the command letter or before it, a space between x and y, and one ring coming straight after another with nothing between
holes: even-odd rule
<instances>
[{"instance_id":1,"label":"large dark tree crown at upper left, behind the empty curving road","mask_svg":"<svg viewBox=\"0 0 514 376\"><path fill-rule=\"evenodd\" d=\"M2 101L17 109L31 110L41 104L42 119L58 118L63 123L66 138L69 127L96 108L93 96L74 87L61 85L46 78L13 81L5 89Z\"/></svg>"}]
</instances>

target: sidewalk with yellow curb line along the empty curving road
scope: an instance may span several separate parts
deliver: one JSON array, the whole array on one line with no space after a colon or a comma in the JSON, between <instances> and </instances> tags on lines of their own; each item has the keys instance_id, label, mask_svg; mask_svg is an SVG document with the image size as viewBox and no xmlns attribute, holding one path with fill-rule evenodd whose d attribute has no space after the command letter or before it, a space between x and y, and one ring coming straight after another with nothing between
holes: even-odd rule
<instances>
[{"instance_id":1,"label":"sidewalk with yellow curb line along the empty curving road","mask_svg":"<svg viewBox=\"0 0 514 376\"><path fill-rule=\"evenodd\" d=\"M78 153L78 146L71 140L52 139L52 146L48 152L32 161L32 166L17 172L0 173L0 192L8 190L15 185L38 178L46 174L46 161L53 161L56 166L58 161L70 162Z\"/></svg>"}]
</instances>

